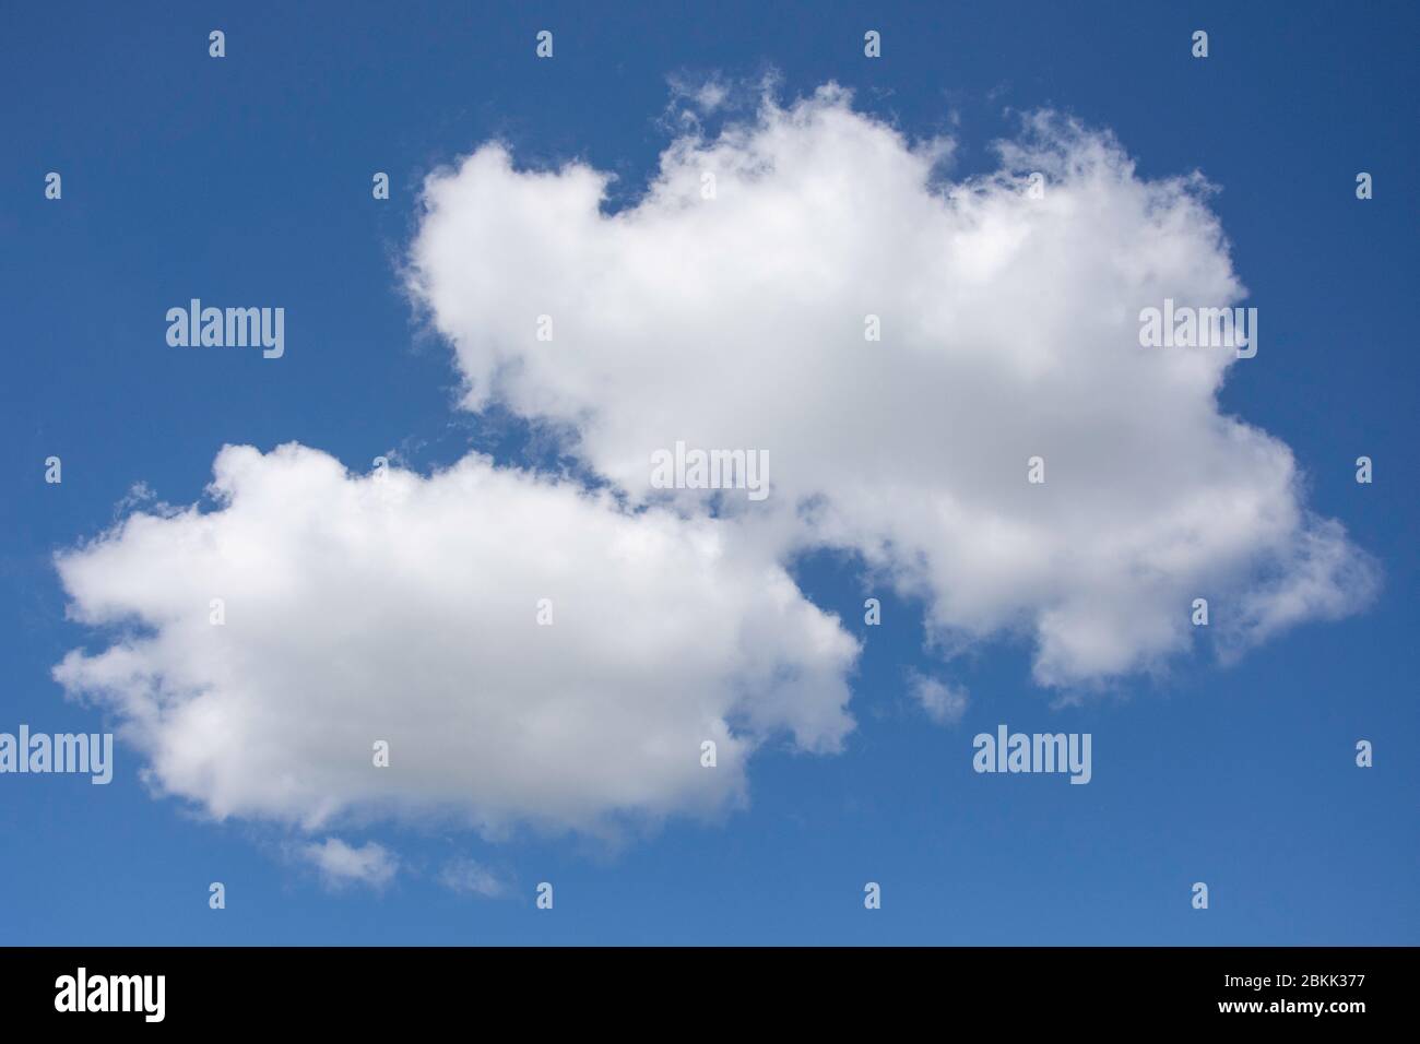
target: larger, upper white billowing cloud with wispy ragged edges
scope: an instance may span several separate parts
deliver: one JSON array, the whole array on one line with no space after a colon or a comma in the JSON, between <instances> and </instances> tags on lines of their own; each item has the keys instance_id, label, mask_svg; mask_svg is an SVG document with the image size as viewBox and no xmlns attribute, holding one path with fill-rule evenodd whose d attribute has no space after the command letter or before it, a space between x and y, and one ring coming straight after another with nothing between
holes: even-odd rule
<instances>
[{"instance_id":1,"label":"larger, upper white billowing cloud with wispy ragged edges","mask_svg":"<svg viewBox=\"0 0 1420 1044\"><path fill-rule=\"evenodd\" d=\"M1376 570L1306 510L1289 449L1218 409L1228 366L1285 345L1140 348L1143 308L1244 298L1208 186L1051 115L998 151L941 180L950 143L828 87L676 141L606 213L606 175L487 145L427 180L409 286L467 408L561 428L636 501L666 496L650 462L676 442L764 450L770 500L720 504L738 526L862 553L949 652L1030 636L1041 683L1159 666L1198 597L1228 649L1362 605Z\"/></svg>"}]
</instances>

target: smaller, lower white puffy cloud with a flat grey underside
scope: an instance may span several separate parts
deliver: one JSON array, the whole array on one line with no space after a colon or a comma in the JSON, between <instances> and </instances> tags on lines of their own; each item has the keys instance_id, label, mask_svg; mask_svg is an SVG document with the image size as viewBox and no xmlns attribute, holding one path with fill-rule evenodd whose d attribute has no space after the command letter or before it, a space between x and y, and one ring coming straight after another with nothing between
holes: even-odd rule
<instances>
[{"instance_id":1,"label":"smaller, lower white puffy cloud with a flat grey underside","mask_svg":"<svg viewBox=\"0 0 1420 1044\"><path fill-rule=\"evenodd\" d=\"M72 614L116 634L55 678L216 817L609 832L733 805L767 737L832 751L852 729L856 641L723 523L476 455L381 479L229 446L214 472L213 510L60 557Z\"/></svg>"}]
</instances>

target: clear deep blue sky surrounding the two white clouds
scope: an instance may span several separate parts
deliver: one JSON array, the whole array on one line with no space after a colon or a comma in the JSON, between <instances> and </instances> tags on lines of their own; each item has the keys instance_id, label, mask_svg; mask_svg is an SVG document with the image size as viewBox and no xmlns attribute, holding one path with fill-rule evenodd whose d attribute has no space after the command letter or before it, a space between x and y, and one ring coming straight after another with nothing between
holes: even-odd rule
<instances>
[{"instance_id":1,"label":"clear deep blue sky surrounding the two white clouds","mask_svg":"<svg viewBox=\"0 0 1420 1044\"><path fill-rule=\"evenodd\" d=\"M446 344L422 330L399 267L417 187L488 139L520 162L582 159L635 200L669 135L667 77L826 81L913 136L950 131L957 172L988 170L1010 111L1108 128L1143 178L1200 169L1275 362L1221 396L1285 442L1306 503L1373 555L1363 612L1288 629L1221 666L1052 707L1031 651L1001 639L951 668L973 700L950 727L906 696L932 672L923 607L883 598L862 626L861 562L795 558L804 594L866 639L858 727L834 756L770 743L751 801L673 817L616 851L577 837L488 841L369 825L415 872L331 891L267 824L155 800L119 749L109 787L0 777L7 943L1181 943L1420 942L1416 899L1413 486L1417 14L1403 4L586 4L11 7L0 62L0 730L98 730L51 670L94 632L65 618L51 557L115 521L135 483L202 496L224 443L291 440L352 469L389 449L427 473L469 449L535 463L506 410L456 408ZM223 28L227 57L207 57ZM540 28L552 61L532 57ZM862 57L862 33L883 58ZM1210 57L1193 60L1193 30ZM956 114L956 121L953 118ZM64 178L45 200L44 175ZM390 199L371 199L373 170ZM1355 175L1375 175L1359 202ZM287 308L287 357L169 348L168 307L200 295ZM295 348L294 345L300 345ZM1264 349L1265 351L1265 349ZM44 483L44 460L64 482ZM1355 459L1376 480L1353 480ZM1088 787L971 771L970 740L1089 732ZM1353 763L1358 739L1376 764ZM481 899L429 869L473 858L508 882ZM227 909L207 909L207 882ZM557 885L551 913L532 905ZM866 881L883 906L862 905ZM1210 909L1189 905L1207 881Z\"/></svg>"}]
</instances>

